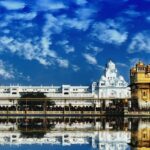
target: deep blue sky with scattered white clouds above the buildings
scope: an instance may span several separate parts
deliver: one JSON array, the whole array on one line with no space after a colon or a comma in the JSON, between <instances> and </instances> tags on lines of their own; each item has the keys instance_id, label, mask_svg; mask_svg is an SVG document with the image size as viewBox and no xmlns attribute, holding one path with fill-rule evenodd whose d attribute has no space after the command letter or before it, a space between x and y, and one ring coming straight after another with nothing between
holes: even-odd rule
<instances>
[{"instance_id":1,"label":"deep blue sky with scattered white clouds above the buildings","mask_svg":"<svg viewBox=\"0 0 150 150\"><path fill-rule=\"evenodd\" d=\"M112 59L150 63L150 0L0 0L0 84L88 85Z\"/></svg>"}]
</instances>

